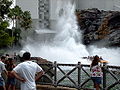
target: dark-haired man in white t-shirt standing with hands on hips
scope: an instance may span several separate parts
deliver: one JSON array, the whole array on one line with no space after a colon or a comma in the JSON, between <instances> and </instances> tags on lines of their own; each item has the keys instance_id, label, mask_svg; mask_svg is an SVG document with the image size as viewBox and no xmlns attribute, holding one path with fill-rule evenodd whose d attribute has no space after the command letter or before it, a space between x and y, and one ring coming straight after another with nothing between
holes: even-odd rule
<instances>
[{"instance_id":1,"label":"dark-haired man in white t-shirt standing with hands on hips","mask_svg":"<svg viewBox=\"0 0 120 90\"><path fill-rule=\"evenodd\" d=\"M44 73L37 63L30 61L30 56L29 52L25 52L24 62L18 64L12 71L12 74L21 81L21 90L36 90L35 81Z\"/></svg>"}]
</instances>

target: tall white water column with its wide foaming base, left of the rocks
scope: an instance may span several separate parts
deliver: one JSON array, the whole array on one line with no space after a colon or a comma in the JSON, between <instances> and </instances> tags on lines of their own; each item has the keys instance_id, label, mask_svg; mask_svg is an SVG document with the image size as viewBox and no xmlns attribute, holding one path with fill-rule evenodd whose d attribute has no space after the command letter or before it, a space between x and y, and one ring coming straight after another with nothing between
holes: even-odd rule
<instances>
[{"instance_id":1,"label":"tall white water column with its wide foaming base, left of the rocks","mask_svg":"<svg viewBox=\"0 0 120 90\"><path fill-rule=\"evenodd\" d=\"M34 44L29 43L23 49L30 51L32 56L40 56L50 61L61 63L77 63L81 61L82 63L88 63L89 61L81 58L89 54L86 47L80 42L81 35L78 32L76 17L74 15L74 5L70 2L64 2L61 8L57 8L57 12L61 9L64 11L57 20L57 33L52 42L47 44L40 43L39 41Z\"/></svg>"}]
</instances>

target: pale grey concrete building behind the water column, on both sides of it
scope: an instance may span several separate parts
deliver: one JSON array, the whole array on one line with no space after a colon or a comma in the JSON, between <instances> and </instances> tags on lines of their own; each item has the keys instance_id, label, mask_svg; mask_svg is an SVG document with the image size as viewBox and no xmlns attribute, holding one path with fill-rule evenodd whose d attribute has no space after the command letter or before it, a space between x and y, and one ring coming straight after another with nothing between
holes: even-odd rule
<instances>
[{"instance_id":1,"label":"pale grey concrete building behind the water column, on both sides of it","mask_svg":"<svg viewBox=\"0 0 120 90\"><path fill-rule=\"evenodd\" d=\"M30 11L33 28L54 28L56 9L60 0L16 0L22 10ZM61 0L65 2L66 0ZM67 0L76 3L76 9L98 8L100 10L120 10L120 0Z\"/></svg>"}]
</instances>

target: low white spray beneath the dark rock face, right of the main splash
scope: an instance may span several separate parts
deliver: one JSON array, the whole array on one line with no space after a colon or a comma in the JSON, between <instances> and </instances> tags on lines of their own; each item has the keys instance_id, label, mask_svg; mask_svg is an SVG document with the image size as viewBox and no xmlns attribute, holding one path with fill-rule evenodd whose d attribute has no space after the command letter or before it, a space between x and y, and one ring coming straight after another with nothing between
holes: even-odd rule
<instances>
[{"instance_id":1,"label":"low white spray beneath the dark rock face, right of the main splash","mask_svg":"<svg viewBox=\"0 0 120 90\"><path fill-rule=\"evenodd\" d=\"M88 51L91 56L99 55L102 56L104 60L107 60L109 65L120 65L119 56L120 48L98 48L96 46L90 46Z\"/></svg>"}]
</instances>

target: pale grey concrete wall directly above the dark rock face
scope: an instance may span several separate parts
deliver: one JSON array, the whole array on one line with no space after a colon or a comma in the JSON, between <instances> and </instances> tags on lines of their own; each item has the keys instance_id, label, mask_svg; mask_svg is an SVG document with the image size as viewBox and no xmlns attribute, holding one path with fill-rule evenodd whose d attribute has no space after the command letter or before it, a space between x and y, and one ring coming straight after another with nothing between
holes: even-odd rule
<instances>
[{"instance_id":1,"label":"pale grey concrete wall directly above the dark rock face","mask_svg":"<svg viewBox=\"0 0 120 90\"><path fill-rule=\"evenodd\" d=\"M77 0L78 9L120 10L120 0Z\"/></svg>"}]
</instances>

